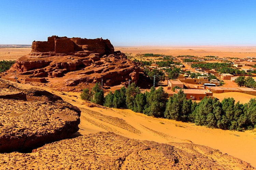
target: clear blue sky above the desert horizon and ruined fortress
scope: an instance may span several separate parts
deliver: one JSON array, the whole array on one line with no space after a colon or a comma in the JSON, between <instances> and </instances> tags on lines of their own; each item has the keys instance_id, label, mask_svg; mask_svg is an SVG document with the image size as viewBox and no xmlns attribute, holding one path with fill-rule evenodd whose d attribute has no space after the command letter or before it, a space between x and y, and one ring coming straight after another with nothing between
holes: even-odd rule
<instances>
[{"instance_id":1,"label":"clear blue sky above the desert horizon and ruined fortress","mask_svg":"<svg viewBox=\"0 0 256 170\"><path fill-rule=\"evenodd\" d=\"M256 0L1 0L0 44L52 35L114 46L256 46Z\"/></svg>"}]
</instances>

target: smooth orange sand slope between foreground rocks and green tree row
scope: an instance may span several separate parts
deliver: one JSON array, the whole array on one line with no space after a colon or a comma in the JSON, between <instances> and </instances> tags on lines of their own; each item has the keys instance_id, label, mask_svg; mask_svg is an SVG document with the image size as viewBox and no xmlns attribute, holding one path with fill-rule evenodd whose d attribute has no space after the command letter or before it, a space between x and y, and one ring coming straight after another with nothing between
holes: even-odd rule
<instances>
[{"instance_id":1,"label":"smooth orange sand slope between foreground rocks and green tree row","mask_svg":"<svg viewBox=\"0 0 256 170\"><path fill-rule=\"evenodd\" d=\"M186 142L208 146L219 149L234 157L240 158L253 166L256 166L256 131L229 131L221 129L210 129L203 126L196 126L194 123L178 122L163 118L149 117L141 113L134 113L128 109L98 108L81 105L83 102L77 92L65 92L67 95L61 97L71 104L97 112L97 115L117 117L122 123L125 121L129 127L123 129L113 123L108 123L97 117L88 117L82 109L79 133L82 135L96 133L99 131L114 132L129 138L138 140L152 140L160 143ZM74 100L74 101L72 101ZM102 116L103 117L103 116ZM94 122L92 123L90 120ZM104 127L102 127L104 125ZM132 130L131 130L132 129ZM141 133L134 133L134 129Z\"/></svg>"}]
</instances>

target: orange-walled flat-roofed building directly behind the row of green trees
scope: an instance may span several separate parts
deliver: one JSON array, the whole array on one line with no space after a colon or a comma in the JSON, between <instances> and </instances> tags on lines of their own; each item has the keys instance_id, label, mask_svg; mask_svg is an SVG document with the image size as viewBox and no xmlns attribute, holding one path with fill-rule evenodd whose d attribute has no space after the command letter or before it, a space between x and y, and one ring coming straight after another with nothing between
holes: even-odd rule
<instances>
[{"instance_id":1,"label":"orange-walled flat-roofed building directly behind the row of green trees","mask_svg":"<svg viewBox=\"0 0 256 170\"><path fill-rule=\"evenodd\" d=\"M212 92L208 89L175 89L175 93L183 90L186 99L202 100L204 97L212 97Z\"/></svg>"}]
</instances>

